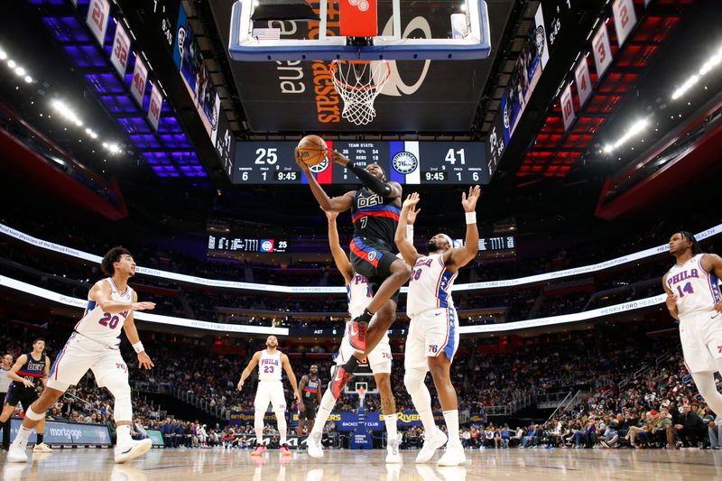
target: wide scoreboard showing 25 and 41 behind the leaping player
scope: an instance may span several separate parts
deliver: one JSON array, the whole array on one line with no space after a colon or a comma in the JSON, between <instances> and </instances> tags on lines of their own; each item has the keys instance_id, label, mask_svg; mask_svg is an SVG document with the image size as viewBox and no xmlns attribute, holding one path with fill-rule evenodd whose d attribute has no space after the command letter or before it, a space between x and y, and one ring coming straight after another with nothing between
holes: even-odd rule
<instances>
[{"instance_id":1,"label":"wide scoreboard showing 25 and 41 behind the leaping player","mask_svg":"<svg viewBox=\"0 0 722 481\"><path fill-rule=\"evenodd\" d=\"M327 141L360 166L377 162L400 184L488 184L484 143ZM234 184L307 184L293 160L295 142L238 142ZM310 168L320 184L358 183L353 172L327 159Z\"/></svg>"}]
</instances>

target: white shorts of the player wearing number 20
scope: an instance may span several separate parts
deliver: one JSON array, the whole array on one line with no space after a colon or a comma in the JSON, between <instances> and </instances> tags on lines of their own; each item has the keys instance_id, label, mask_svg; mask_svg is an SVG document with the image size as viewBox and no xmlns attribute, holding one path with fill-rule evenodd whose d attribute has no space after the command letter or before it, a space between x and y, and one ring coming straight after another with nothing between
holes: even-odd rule
<instances>
[{"instance_id":1,"label":"white shorts of the player wearing number 20","mask_svg":"<svg viewBox=\"0 0 722 481\"><path fill-rule=\"evenodd\" d=\"M74 332L55 358L47 386L64 393L69 386L78 384L88 370L93 371L97 387L106 387L108 375L121 374L128 378L128 366L120 350Z\"/></svg>"}]
</instances>

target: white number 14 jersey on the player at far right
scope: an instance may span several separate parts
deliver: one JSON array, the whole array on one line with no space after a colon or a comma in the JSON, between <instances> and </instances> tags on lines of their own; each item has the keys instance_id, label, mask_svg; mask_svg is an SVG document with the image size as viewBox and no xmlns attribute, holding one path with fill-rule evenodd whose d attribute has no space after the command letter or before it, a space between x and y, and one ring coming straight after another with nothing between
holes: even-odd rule
<instances>
[{"instance_id":1,"label":"white number 14 jersey on the player at far right","mask_svg":"<svg viewBox=\"0 0 722 481\"><path fill-rule=\"evenodd\" d=\"M677 296L677 312L681 320L693 314L712 312L720 301L717 276L702 268L704 255L697 254L684 264L675 264L667 272L665 282Z\"/></svg>"}]
</instances>

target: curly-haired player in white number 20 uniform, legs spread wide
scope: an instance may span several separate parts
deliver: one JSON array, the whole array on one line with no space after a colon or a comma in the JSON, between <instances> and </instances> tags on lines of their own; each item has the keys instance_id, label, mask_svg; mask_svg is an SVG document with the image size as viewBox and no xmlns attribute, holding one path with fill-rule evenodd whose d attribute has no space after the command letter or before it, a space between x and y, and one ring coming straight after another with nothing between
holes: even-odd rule
<instances>
[{"instance_id":1,"label":"curly-haired player in white number 20 uniform, legs spread wide","mask_svg":"<svg viewBox=\"0 0 722 481\"><path fill-rule=\"evenodd\" d=\"M38 422L45 419L45 412L71 385L78 384L88 369L93 371L98 387L106 387L116 402L113 416L117 425L116 463L125 463L151 449L153 441L135 441L130 436L133 421L133 405L130 400L128 367L120 355L120 333L133 345L138 364L145 369L153 367L153 361L145 354L133 319L134 310L151 310L153 302L138 302L138 295L128 286L128 279L135 275L135 261L125 247L113 247L100 264L109 275L95 283L88 292L85 315L75 325L65 347L52 365L48 383L40 399L33 402L25 412L23 427L10 446L7 459L14 463L27 462L25 446Z\"/></svg>"}]
</instances>

